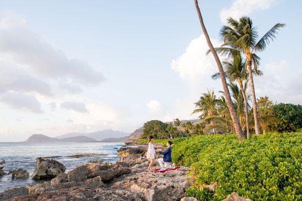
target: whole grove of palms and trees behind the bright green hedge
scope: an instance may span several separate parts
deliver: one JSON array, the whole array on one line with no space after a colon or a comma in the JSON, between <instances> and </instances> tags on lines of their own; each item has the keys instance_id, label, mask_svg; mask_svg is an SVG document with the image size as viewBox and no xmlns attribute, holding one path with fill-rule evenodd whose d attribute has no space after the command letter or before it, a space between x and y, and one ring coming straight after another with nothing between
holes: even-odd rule
<instances>
[{"instance_id":1,"label":"whole grove of palms and trees behind the bright green hedge","mask_svg":"<svg viewBox=\"0 0 302 201\"><path fill-rule=\"evenodd\" d=\"M198 8L198 7L196 7ZM203 23L201 15L199 16ZM254 76L261 76L260 57L267 45L276 38L277 31L285 24L277 23L261 38L249 17L238 21L229 18L228 25L220 30L222 45L211 48L218 72L212 79L222 78L223 91L209 89L195 103L193 114L199 121L175 119L170 123L158 120L144 124L142 138L153 135L159 139L189 137L192 135L236 133L238 139L250 138L251 134L266 132L293 132L302 128L302 106L274 104L268 96L256 97ZM207 33L203 29L205 35ZM210 41L208 41L210 42ZM219 69L219 65L222 67ZM225 80L225 83L223 82ZM231 103L229 103L231 100Z\"/></svg>"}]
</instances>

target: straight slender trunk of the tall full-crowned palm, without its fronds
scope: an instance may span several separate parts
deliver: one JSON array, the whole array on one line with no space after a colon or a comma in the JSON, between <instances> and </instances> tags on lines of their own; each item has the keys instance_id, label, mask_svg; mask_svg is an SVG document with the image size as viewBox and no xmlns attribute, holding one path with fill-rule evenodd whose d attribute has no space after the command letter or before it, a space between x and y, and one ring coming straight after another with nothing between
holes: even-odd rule
<instances>
[{"instance_id":1,"label":"straight slender trunk of the tall full-crowned palm, without its fronds","mask_svg":"<svg viewBox=\"0 0 302 201\"><path fill-rule=\"evenodd\" d=\"M254 112L254 121L255 121L255 133L256 133L256 135L259 135L260 134L260 130L259 130L259 121L258 121L258 114L257 114L257 100L256 100L256 94L255 94L254 79L253 79L253 73L252 73L252 60L251 60L251 58L248 58L247 63L248 63L249 79L250 79L250 85L251 85L251 91L252 91L253 112Z\"/></svg>"}]
</instances>

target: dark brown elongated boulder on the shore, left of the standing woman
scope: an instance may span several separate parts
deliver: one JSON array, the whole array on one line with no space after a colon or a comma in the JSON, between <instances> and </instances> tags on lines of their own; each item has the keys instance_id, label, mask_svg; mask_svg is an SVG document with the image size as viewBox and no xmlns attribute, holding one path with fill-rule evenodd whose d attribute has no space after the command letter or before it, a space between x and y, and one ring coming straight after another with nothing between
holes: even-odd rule
<instances>
[{"instance_id":1,"label":"dark brown elongated boulder on the shore, left of the standing woman","mask_svg":"<svg viewBox=\"0 0 302 201\"><path fill-rule=\"evenodd\" d=\"M115 178L123 175L123 174L129 174L130 172L131 172L131 170L129 168L117 166L117 167L110 168L108 170L93 171L89 175L89 178L93 178L93 177L96 177L96 176L101 176L102 181L106 183L106 182L108 182L112 179L115 179Z\"/></svg>"}]
</instances>

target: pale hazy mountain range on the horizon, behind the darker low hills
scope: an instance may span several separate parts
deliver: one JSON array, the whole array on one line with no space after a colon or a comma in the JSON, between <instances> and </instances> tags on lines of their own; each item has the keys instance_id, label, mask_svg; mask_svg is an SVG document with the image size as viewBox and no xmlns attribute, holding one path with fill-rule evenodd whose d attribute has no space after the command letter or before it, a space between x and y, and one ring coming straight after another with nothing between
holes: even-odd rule
<instances>
[{"instance_id":1,"label":"pale hazy mountain range on the horizon, behind the darker low hills","mask_svg":"<svg viewBox=\"0 0 302 201\"><path fill-rule=\"evenodd\" d=\"M56 138L62 139L62 138L70 138L70 137L77 137L77 136L86 136L89 138L93 138L97 141L102 141L107 138L121 138L129 136L129 133L124 133L121 131L113 131L111 129L104 130L104 131L97 131L93 133L67 133L64 135L57 136Z\"/></svg>"}]
</instances>

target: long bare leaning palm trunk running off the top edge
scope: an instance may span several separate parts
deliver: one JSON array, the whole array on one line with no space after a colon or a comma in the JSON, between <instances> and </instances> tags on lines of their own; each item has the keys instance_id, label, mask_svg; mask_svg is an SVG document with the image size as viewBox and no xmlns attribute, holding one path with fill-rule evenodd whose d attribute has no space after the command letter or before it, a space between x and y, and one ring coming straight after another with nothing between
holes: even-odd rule
<instances>
[{"instance_id":1,"label":"long bare leaning palm trunk running off the top edge","mask_svg":"<svg viewBox=\"0 0 302 201\"><path fill-rule=\"evenodd\" d=\"M201 13L200 13L200 9L198 7L197 0L194 0L194 3L195 3L195 7L196 7L197 14L198 14L199 22L200 22L202 31L204 33L206 42L207 42L207 44L208 44L208 46L209 46L209 48L210 48L210 50L211 50L211 52L214 56L214 59L217 63L217 67L218 67L218 70L219 70L219 73L220 73L220 78L221 78L221 82L222 82L222 86L223 86L223 91L224 91L224 94L225 94L226 105L228 105L228 108L230 110L231 118L232 118L235 130L236 130L238 140L241 140L244 137L244 134L242 132L242 128L241 128L241 125L240 125L239 120L238 120L237 113L236 113L235 108L234 108L234 104L233 104L233 101L232 101L232 98L231 98L231 94L230 94L230 91L229 91L229 88L228 88L228 84L226 83L226 79L225 79L225 76L224 76L224 71L223 71L220 59L219 59L219 57L218 57L218 55L217 55L217 53L216 53L216 51L215 51L215 49L214 49L214 47L211 43L210 37L209 37L209 35L206 31L206 28L204 26L202 16L201 16Z\"/></svg>"}]
</instances>

